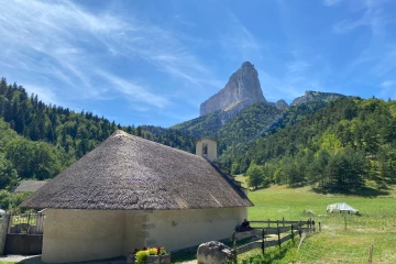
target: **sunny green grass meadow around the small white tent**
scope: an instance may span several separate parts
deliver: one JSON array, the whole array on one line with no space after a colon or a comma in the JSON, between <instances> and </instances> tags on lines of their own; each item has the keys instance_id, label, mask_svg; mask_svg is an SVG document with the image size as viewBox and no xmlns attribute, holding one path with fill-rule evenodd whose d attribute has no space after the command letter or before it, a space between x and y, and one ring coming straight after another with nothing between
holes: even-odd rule
<instances>
[{"instance_id":1,"label":"sunny green grass meadow around the small white tent","mask_svg":"<svg viewBox=\"0 0 396 264\"><path fill-rule=\"evenodd\" d=\"M238 180L244 182L243 176ZM367 263L370 246L374 246L373 263L396 263L396 191L387 196L356 197L319 195L304 188L273 186L249 193L254 207L250 220L306 220L321 222L322 231L306 238L299 251L292 249L279 263ZM327 215L333 202L346 202L361 216ZM346 220L346 229L345 222Z\"/></svg>"}]
</instances>

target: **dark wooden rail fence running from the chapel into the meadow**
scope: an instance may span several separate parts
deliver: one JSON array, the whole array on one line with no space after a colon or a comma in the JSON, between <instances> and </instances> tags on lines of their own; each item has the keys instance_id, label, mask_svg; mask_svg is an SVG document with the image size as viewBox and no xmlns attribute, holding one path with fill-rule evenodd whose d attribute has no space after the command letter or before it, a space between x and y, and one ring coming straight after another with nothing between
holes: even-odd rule
<instances>
[{"instance_id":1,"label":"dark wooden rail fence running from the chapel into the meadow","mask_svg":"<svg viewBox=\"0 0 396 264\"><path fill-rule=\"evenodd\" d=\"M285 221L285 219L276 221L263 220L250 221L250 223L253 227L251 231L233 232L231 235L233 249L237 254L242 254L254 249L262 249L264 254L265 249L272 246L280 248L283 243L293 240L297 235L300 239L302 232L316 231L315 221L312 219L308 219L308 221ZM244 240L252 237L255 241L237 246L238 240Z\"/></svg>"}]
</instances>

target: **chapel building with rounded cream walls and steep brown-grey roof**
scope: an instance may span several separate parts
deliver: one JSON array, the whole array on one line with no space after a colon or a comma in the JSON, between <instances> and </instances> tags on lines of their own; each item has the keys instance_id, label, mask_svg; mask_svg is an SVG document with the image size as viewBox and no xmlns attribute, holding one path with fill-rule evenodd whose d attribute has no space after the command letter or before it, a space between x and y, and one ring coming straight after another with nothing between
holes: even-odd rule
<instances>
[{"instance_id":1,"label":"chapel building with rounded cream walls and steep brown-grey roof","mask_svg":"<svg viewBox=\"0 0 396 264\"><path fill-rule=\"evenodd\" d=\"M206 158L117 131L22 206L46 208L42 260L56 263L226 239L252 202Z\"/></svg>"}]
</instances>

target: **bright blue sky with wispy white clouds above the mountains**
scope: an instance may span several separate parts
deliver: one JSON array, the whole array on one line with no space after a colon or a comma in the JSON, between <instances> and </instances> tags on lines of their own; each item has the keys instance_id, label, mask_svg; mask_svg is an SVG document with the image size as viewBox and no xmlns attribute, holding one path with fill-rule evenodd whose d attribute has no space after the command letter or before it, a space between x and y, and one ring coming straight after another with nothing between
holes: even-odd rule
<instances>
[{"instance_id":1,"label":"bright blue sky with wispy white clouds above the mountains","mask_svg":"<svg viewBox=\"0 0 396 264\"><path fill-rule=\"evenodd\" d=\"M394 0L7 0L0 76L121 124L199 116L243 62L268 101L396 99Z\"/></svg>"}]
</instances>

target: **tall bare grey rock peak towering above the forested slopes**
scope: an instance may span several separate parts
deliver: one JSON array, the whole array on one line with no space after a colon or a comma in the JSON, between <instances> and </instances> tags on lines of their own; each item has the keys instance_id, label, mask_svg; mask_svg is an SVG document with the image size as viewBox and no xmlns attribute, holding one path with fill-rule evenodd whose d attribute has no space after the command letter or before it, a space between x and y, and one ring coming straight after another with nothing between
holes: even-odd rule
<instances>
[{"instance_id":1,"label":"tall bare grey rock peak towering above the forested slopes","mask_svg":"<svg viewBox=\"0 0 396 264\"><path fill-rule=\"evenodd\" d=\"M257 101L266 102L260 86L257 70L251 63L245 62L231 75L223 89L200 105L200 117L218 110L239 112Z\"/></svg>"}]
</instances>

